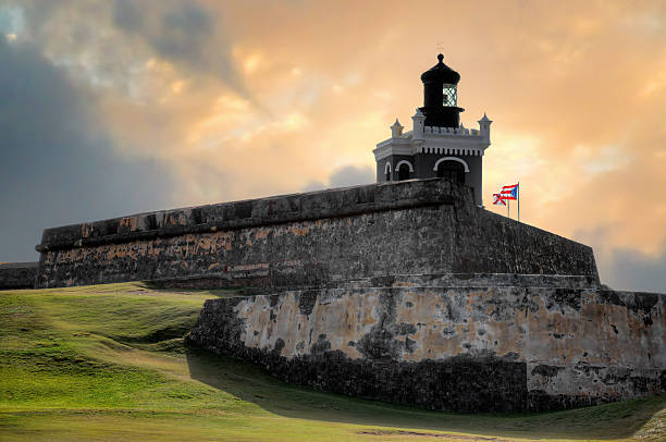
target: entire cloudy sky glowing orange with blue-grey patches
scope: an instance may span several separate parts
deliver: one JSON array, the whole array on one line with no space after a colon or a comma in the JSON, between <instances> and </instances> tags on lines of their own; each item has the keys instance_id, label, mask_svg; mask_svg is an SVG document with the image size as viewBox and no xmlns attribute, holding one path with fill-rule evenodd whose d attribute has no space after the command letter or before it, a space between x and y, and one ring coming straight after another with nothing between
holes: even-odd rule
<instances>
[{"instance_id":1,"label":"entire cloudy sky glowing orange with blue-grey patches","mask_svg":"<svg viewBox=\"0 0 666 442\"><path fill-rule=\"evenodd\" d=\"M666 292L664 41L661 0L0 0L0 261L49 226L372 183L441 47L465 126L494 121L486 208L520 181L522 222Z\"/></svg>"}]
</instances>

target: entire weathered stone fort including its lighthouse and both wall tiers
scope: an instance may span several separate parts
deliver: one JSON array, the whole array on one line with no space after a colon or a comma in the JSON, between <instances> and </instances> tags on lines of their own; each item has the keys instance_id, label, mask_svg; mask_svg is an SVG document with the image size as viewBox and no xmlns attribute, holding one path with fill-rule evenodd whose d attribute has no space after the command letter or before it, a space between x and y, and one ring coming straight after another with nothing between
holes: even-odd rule
<instances>
[{"instance_id":1,"label":"entire weathered stone fort including its lighthouse and both wall tiers","mask_svg":"<svg viewBox=\"0 0 666 442\"><path fill-rule=\"evenodd\" d=\"M483 208L491 121L460 75L374 149L377 184L47 229L4 287L149 280L243 287L188 335L323 391L456 412L535 412L666 391L666 295L600 283L590 247Z\"/></svg>"}]
</instances>

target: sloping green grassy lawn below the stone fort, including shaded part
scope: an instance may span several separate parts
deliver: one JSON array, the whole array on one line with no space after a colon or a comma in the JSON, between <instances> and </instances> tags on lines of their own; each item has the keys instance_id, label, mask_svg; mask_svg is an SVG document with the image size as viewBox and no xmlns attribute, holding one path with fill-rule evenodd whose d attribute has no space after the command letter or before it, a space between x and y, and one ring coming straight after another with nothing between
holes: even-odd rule
<instances>
[{"instance_id":1,"label":"sloping green grassy lawn below the stone fort, including shaded part","mask_svg":"<svg viewBox=\"0 0 666 442\"><path fill-rule=\"evenodd\" d=\"M0 440L666 440L666 396L435 413L287 385L185 347L203 300L233 294L143 283L0 292Z\"/></svg>"}]
</instances>

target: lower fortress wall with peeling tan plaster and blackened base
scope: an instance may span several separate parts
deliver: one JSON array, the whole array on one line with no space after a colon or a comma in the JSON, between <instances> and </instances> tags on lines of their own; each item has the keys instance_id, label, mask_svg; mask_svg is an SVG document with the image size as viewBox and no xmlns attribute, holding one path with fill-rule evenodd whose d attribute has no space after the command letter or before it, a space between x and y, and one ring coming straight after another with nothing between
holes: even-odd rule
<instances>
[{"instance_id":1,"label":"lower fortress wall with peeling tan plaster and blackened base","mask_svg":"<svg viewBox=\"0 0 666 442\"><path fill-rule=\"evenodd\" d=\"M189 339L324 391L443 410L544 410L666 392L665 304L599 288L396 281L210 299Z\"/></svg>"}]
</instances>

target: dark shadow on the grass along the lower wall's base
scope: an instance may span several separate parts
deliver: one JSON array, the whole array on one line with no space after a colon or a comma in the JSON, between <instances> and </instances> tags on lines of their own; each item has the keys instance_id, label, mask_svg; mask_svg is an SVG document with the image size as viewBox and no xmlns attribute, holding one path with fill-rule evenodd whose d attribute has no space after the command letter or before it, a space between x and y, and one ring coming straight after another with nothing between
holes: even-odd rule
<instances>
[{"instance_id":1,"label":"dark shadow on the grass along the lower wall's base","mask_svg":"<svg viewBox=\"0 0 666 442\"><path fill-rule=\"evenodd\" d=\"M430 412L294 386L270 377L255 365L217 356L193 344L187 346L186 356L193 379L267 412L298 419L509 438L624 439L632 437L666 407L666 396L662 395L541 414Z\"/></svg>"}]
</instances>

